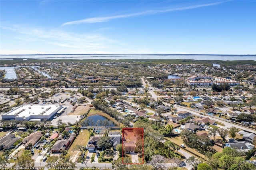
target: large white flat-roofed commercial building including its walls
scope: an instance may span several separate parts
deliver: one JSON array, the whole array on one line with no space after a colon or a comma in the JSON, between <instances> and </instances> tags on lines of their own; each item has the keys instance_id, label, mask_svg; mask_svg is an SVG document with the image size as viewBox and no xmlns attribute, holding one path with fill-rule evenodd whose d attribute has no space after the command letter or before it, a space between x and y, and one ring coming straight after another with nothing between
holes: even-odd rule
<instances>
[{"instance_id":1,"label":"large white flat-roofed commercial building including its walls","mask_svg":"<svg viewBox=\"0 0 256 170\"><path fill-rule=\"evenodd\" d=\"M33 119L51 119L62 105L21 105L2 115L3 120L32 121Z\"/></svg>"}]
</instances>

